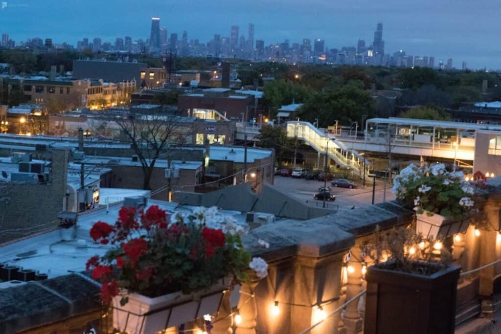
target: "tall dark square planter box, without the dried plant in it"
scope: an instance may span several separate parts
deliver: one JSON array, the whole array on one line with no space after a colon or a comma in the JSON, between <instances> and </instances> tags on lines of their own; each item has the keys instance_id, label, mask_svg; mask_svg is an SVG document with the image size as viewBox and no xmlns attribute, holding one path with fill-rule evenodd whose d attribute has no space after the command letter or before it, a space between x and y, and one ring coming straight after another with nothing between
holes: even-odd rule
<instances>
[{"instance_id":1,"label":"tall dark square planter box, without the dried plant in it","mask_svg":"<svg viewBox=\"0 0 501 334\"><path fill-rule=\"evenodd\" d=\"M369 267L364 334L453 334L460 269L424 276Z\"/></svg>"}]
</instances>

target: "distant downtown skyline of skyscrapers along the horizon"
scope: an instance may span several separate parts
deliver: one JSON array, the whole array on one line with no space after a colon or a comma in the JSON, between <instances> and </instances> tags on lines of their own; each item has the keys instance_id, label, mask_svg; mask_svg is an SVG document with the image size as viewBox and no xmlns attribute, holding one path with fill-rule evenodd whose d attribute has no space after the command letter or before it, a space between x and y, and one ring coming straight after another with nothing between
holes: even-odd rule
<instances>
[{"instance_id":1,"label":"distant downtown skyline of skyscrapers along the horizon","mask_svg":"<svg viewBox=\"0 0 501 334\"><path fill-rule=\"evenodd\" d=\"M198 39L188 40L188 33L184 31L182 38L178 34L171 33L170 38L167 28L160 26L160 18L151 19L151 30L149 38L133 41L130 36L117 38L114 43L102 42L96 37L91 43L88 38L77 42L76 49L79 51L90 49L94 52L105 53L163 53L172 50L177 56L182 57L216 57L216 58L240 58L253 61L275 61L282 63L314 63L333 65L373 65L373 66L397 66L397 67L430 67L441 69L452 69L452 58L446 62L435 63L433 56L412 56L400 50L393 54L385 50L383 40L383 24L378 23L374 32L372 44L367 44L365 40L359 40L355 46L346 46L339 49L328 48L323 39L303 39L302 43L290 43L285 40L283 43L266 45L263 40L255 40L254 25L249 24L247 36L240 35L240 27L233 25L230 27L229 37L214 34L212 40L207 43L200 43ZM2 35L3 48L14 48L15 41L9 39L7 34ZM34 38L25 43L20 43L20 47L34 49L73 49L68 44L54 44L52 39ZM461 69L467 69L463 62Z\"/></svg>"}]
</instances>

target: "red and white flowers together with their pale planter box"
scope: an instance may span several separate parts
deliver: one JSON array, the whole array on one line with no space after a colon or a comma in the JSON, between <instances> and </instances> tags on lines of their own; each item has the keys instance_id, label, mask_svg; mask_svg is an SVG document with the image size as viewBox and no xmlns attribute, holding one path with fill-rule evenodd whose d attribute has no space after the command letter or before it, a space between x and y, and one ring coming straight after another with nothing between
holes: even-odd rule
<instances>
[{"instance_id":1,"label":"red and white flowers together with their pale planter box","mask_svg":"<svg viewBox=\"0 0 501 334\"><path fill-rule=\"evenodd\" d=\"M251 262L243 232L215 207L171 217L156 205L123 207L114 225L98 221L90 230L111 248L87 269L102 283L102 301L112 304L115 328L156 332L216 312L232 281L248 279L249 265L262 259ZM263 278L267 268L255 272Z\"/></svg>"}]
</instances>

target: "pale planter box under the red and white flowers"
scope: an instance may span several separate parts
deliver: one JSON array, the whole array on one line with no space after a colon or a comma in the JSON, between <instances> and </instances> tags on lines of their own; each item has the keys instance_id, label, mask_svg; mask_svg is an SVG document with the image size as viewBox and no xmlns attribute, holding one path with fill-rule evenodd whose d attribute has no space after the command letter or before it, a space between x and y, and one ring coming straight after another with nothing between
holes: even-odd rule
<instances>
[{"instance_id":1,"label":"pale planter box under the red and white flowers","mask_svg":"<svg viewBox=\"0 0 501 334\"><path fill-rule=\"evenodd\" d=\"M159 297L129 294L129 302L120 305L120 295L113 298L113 326L128 333L153 333L168 327L193 321L204 314L219 310L223 291L229 287L231 278L225 277L209 289L201 291L195 300L191 294L181 291Z\"/></svg>"}]
</instances>

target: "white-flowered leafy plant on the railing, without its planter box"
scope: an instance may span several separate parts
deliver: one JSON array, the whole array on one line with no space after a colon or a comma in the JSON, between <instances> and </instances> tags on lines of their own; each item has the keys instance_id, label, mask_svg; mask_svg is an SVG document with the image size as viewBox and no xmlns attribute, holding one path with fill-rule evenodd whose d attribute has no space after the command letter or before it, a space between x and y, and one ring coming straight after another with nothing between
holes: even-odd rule
<instances>
[{"instance_id":1,"label":"white-flowered leafy plant on the railing, without its planter box","mask_svg":"<svg viewBox=\"0 0 501 334\"><path fill-rule=\"evenodd\" d=\"M417 167L410 164L393 179L392 192L417 213L438 213L460 218L472 209L475 187L463 180L462 172L447 172L444 164Z\"/></svg>"}]
</instances>

